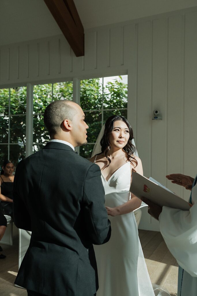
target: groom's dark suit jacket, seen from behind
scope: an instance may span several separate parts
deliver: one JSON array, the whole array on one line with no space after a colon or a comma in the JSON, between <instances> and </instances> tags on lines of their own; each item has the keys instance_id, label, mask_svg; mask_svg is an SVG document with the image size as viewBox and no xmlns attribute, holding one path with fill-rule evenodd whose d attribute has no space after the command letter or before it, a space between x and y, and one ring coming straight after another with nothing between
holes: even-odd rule
<instances>
[{"instance_id":1,"label":"groom's dark suit jacket, seen from behind","mask_svg":"<svg viewBox=\"0 0 197 296\"><path fill-rule=\"evenodd\" d=\"M49 142L22 160L14 178L14 223L32 231L15 283L50 296L98 289L92 244L110 238L100 168Z\"/></svg>"}]
</instances>

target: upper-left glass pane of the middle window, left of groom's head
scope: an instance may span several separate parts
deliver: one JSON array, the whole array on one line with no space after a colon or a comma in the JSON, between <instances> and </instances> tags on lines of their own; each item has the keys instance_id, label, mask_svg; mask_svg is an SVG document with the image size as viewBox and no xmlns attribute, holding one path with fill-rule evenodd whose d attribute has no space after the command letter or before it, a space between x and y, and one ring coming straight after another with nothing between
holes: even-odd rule
<instances>
[{"instance_id":1,"label":"upper-left glass pane of the middle window, left of groom's head","mask_svg":"<svg viewBox=\"0 0 197 296\"><path fill-rule=\"evenodd\" d=\"M39 84L33 87L33 113L44 113L52 101L52 84Z\"/></svg>"}]
</instances>

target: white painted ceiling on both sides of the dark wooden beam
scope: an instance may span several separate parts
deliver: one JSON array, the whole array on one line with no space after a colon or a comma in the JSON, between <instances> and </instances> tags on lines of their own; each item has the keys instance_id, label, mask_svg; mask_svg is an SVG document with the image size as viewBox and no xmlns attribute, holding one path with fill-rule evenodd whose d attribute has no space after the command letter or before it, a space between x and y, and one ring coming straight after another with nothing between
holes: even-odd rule
<instances>
[{"instance_id":1,"label":"white painted ceiling on both sides of the dark wooden beam","mask_svg":"<svg viewBox=\"0 0 197 296\"><path fill-rule=\"evenodd\" d=\"M74 0L84 29L197 6L197 0ZM0 0L0 46L61 34L43 0Z\"/></svg>"}]
</instances>

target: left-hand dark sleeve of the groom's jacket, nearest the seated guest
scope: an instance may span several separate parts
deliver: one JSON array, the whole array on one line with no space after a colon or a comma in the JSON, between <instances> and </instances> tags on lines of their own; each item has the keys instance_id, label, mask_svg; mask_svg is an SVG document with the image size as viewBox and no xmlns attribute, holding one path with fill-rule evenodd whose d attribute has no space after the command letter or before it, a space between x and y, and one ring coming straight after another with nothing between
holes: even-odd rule
<instances>
[{"instance_id":1,"label":"left-hand dark sleeve of the groom's jacket, nearest the seated guest","mask_svg":"<svg viewBox=\"0 0 197 296\"><path fill-rule=\"evenodd\" d=\"M14 186L13 186L13 216L14 224L17 228L31 231L31 220L28 210L22 198L21 186L24 186L23 174L21 168L23 166L22 161L17 165Z\"/></svg>"}]
</instances>

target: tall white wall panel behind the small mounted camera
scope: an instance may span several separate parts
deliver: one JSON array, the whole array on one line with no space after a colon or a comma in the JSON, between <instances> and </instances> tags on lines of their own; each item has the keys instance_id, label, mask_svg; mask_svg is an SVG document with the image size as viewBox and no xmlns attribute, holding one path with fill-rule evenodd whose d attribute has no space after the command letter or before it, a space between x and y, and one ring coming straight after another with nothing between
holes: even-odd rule
<instances>
[{"instance_id":1,"label":"tall white wall panel behind the small mounted camera","mask_svg":"<svg viewBox=\"0 0 197 296\"><path fill-rule=\"evenodd\" d=\"M166 19L154 20L152 24L152 109L158 109L162 120L152 123L152 177L162 184L166 183L166 72L167 72L167 38ZM160 168L160 170L158 170Z\"/></svg>"}]
</instances>

